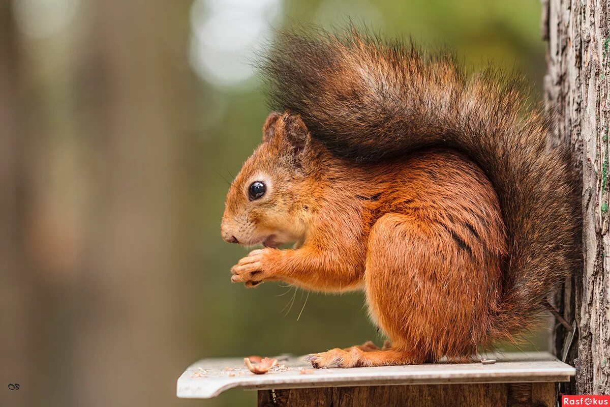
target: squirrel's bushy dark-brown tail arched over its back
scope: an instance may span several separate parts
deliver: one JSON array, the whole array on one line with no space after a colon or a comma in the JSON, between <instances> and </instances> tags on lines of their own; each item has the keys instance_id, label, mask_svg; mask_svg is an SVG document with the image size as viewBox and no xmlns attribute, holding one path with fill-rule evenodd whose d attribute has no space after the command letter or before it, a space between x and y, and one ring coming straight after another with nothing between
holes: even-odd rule
<instances>
[{"instance_id":1,"label":"squirrel's bushy dark-brown tail arched over its back","mask_svg":"<svg viewBox=\"0 0 610 407\"><path fill-rule=\"evenodd\" d=\"M521 81L467 77L452 57L346 34L282 32L262 65L274 109L300 113L312 137L354 160L430 145L456 148L486 172L508 231L503 300L493 334L528 326L550 290L578 267L577 175L570 150L547 139Z\"/></svg>"}]
</instances>

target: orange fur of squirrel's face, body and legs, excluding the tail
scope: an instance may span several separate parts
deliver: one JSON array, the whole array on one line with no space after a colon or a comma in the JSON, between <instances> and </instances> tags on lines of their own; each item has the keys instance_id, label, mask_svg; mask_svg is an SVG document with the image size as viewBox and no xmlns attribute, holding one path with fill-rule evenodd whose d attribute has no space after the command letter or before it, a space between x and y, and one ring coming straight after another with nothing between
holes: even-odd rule
<instances>
[{"instance_id":1,"label":"orange fur of squirrel's face, body and legs, excluding the tail","mask_svg":"<svg viewBox=\"0 0 610 407\"><path fill-rule=\"evenodd\" d=\"M457 357L487 342L507 248L497 196L481 170L443 149L354 164L309 140L301 170L295 171L282 153L290 146L284 134L288 117L235 179L223 235L243 242L255 234L228 226L245 210L253 228L303 243L296 250L254 250L233 268L232 281L252 286L282 280L325 291L362 288L371 317L393 341L392 355L403 355L401 363ZM255 172L276 189L267 201L248 201L245 181ZM290 193L278 196L286 187ZM278 217L276 211L285 212ZM248 243L267 237L259 236Z\"/></svg>"}]
</instances>

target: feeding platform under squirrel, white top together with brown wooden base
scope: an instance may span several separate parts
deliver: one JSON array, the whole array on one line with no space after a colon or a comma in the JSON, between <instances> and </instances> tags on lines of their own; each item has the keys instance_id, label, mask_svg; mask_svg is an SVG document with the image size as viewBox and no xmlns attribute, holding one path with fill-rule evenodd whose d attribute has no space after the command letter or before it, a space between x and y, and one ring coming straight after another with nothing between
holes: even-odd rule
<instances>
[{"instance_id":1,"label":"feeding platform under squirrel, white top together with brown wooden base","mask_svg":"<svg viewBox=\"0 0 610 407\"><path fill-rule=\"evenodd\" d=\"M495 363L312 369L303 357L276 356L255 375L243 358L203 359L178 379L178 397L212 398L233 387L258 391L259 407L556 405L556 384L572 366L546 352L486 355Z\"/></svg>"}]
</instances>

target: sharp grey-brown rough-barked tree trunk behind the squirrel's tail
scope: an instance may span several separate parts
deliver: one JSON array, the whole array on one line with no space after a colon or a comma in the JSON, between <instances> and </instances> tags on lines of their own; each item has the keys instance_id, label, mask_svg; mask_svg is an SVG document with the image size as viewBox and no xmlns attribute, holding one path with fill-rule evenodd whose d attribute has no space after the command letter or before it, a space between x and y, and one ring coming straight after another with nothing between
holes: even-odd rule
<instances>
[{"instance_id":1,"label":"sharp grey-brown rough-barked tree trunk behind the squirrel's tail","mask_svg":"<svg viewBox=\"0 0 610 407\"><path fill-rule=\"evenodd\" d=\"M571 142L583 175L583 275L566 281L556 298L576 320L573 340L561 326L555 347L576 367L567 393L610 394L610 233L608 224L609 99L607 0L543 2L548 38L547 106L558 109L556 137Z\"/></svg>"}]
</instances>

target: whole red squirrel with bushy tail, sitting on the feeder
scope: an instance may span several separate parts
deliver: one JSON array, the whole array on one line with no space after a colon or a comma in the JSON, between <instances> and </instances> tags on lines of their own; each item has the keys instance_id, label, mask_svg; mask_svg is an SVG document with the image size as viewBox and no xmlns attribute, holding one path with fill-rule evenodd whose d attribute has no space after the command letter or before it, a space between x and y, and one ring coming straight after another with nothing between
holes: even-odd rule
<instances>
[{"instance_id":1,"label":"whole red squirrel with bushy tail, sitting on the feeder","mask_svg":"<svg viewBox=\"0 0 610 407\"><path fill-rule=\"evenodd\" d=\"M314 367L466 361L536 323L581 261L580 195L519 78L353 27L280 32L261 67L276 111L221 235L264 248L231 280L364 290L390 339L313 353Z\"/></svg>"}]
</instances>

